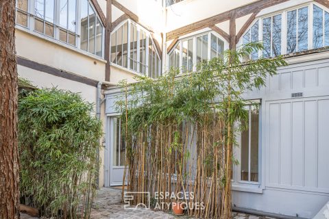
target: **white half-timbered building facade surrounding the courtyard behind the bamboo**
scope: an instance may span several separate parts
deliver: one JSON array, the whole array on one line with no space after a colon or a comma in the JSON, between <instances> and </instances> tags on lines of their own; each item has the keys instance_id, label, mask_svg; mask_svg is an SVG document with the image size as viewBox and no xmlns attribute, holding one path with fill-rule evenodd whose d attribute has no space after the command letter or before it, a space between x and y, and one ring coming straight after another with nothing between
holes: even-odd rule
<instances>
[{"instance_id":1,"label":"white half-timbered building facade surrounding the courtyard behind the bamboo","mask_svg":"<svg viewBox=\"0 0 329 219\"><path fill-rule=\"evenodd\" d=\"M259 107L246 105L232 205L313 218L329 201L328 0L16 1L19 76L93 103L99 81L195 70L243 43L264 44L250 59L285 55L288 66L244 95ZM122 185L125 146L114 106L121 90L102 89L99 186Z\"/></svg>"}]
</instances>

